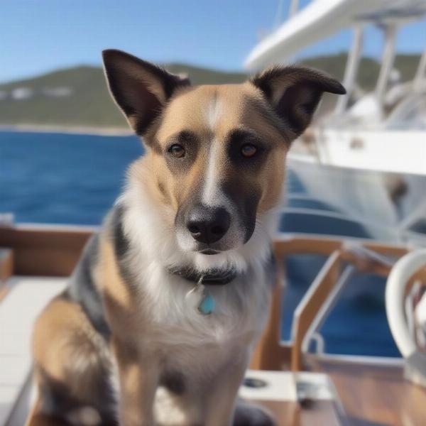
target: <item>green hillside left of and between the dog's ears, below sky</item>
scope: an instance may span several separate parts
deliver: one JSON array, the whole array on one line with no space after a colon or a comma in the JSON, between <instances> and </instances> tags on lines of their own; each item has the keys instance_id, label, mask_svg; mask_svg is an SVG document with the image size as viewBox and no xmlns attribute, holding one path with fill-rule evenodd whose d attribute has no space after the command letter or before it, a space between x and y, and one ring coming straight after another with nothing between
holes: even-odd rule
<instances>
[{"instance_id":1,"label":"green hillside left of and between the dog's ears, below sky","mask_svg":"<svg viewBox=\"0 0 426 426\"><path fill-rule=\"evenodd\" d=\"M187 73L195 84L241 82L245 77L180 64L168 69ZM0 84L0 124L127 128L100 67L75 67Z\"/></svg>"}]
</instances>

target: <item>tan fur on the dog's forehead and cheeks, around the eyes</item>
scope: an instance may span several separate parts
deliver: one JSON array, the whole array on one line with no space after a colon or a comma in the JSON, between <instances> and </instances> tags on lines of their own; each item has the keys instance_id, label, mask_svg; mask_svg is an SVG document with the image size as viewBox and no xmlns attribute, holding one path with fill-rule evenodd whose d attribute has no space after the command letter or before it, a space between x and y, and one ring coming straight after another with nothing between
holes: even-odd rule
<instances>
[{"instance_id":1,"label":"tan fur on the dog's forehead and cheeks, around the eyes","mask_svg":"<svg viewBox=\"0 0 426 426\"><path fill-rule=\"evenodd\" d=\"M206 111L209 108L209 102L217 99L217 102L223 106L220 119L214 129L209 129L206 121ZM131 173L141 173L140 169L149 165L149 170L156 179L143 180L144 185L148 185L151 193L155 196L160 204L173 207L175 214L180 204L186 200L188 195L195 191L200 182L200 177L207 168L208 155L207 151L210 144L219 145L219 150L224 158L222 170L220 173L224 178L230 180L238 178L241 180L241 173L236 173L233 168L229 167L226 160L225 142L229 132L235 129L246 129L258 133L259 136L266 138L273 150L267 160L267 165L261 173L247 174L246 185L244 187L249 190L250 187L256 185L261 187L261 201L259 203L259 213L266 212L279 200L282 191L283 163L285 155L288 151L288 143L293 134L282 134L258 114L258 111L247 102L248 99L255 99L257 102L264 104L267 108L265 100L261 92L250 84L226 84L199 86L180 89L178 94L170 102L162 117L160 125L154 126L146 138L155 141L156 147L160 149L148 150L143 164L138 161L133 165ZM200 155L192 165L190 170L186 170L185 175L173 175L168 169L163 151L167 141L178 134L180 131L192 131L195 133L202 143ZM214 137L213 137L214 136ZM142 179L141 179L142 181ZM170 216L173 220L174 216Z\"/></svg>"}]
</instances>

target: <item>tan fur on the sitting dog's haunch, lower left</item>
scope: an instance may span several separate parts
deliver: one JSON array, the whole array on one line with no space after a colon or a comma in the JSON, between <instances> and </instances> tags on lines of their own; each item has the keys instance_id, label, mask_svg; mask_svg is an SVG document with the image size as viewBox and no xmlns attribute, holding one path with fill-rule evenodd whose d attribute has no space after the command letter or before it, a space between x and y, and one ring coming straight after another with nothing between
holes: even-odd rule
<instances>
[{"instance_id":1,"label":"tan fur on the sitting dog's haunch, lower left","mask_svg":"<svg viewBox=\"0 0 426 426\"><path fill-rule=\"evenodd\" d=\"M66 390L70 398L96 406L100 383L111 368L105 349L102 337L87 320L80 305L61 295L56 297L35 322L34 379L39 395L45 393L45 386L53 384ZM46 414L49 411L39 398L27 425L68 425L65 420Z\"/></svg>"}]
</instances>

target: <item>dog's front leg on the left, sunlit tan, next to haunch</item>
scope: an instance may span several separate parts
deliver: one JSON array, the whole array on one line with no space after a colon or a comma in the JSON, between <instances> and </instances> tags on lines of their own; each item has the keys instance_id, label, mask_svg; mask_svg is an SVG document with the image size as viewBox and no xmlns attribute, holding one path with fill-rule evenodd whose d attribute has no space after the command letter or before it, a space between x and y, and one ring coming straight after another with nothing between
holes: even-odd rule
<instances>
[{"instance_id":1,"label":"dog's front leg on the left, sunlit tan, next to haunch","mask_svg":"<svg viewBox=\"0 0 426 426\"><path fill-rule=\"evenodd\" d=\"M141 353L115 341L119 370L119 420L121 426L154 426L153 403L158 385L158 363L152 354Z\"/></svg>"}]
</instances>

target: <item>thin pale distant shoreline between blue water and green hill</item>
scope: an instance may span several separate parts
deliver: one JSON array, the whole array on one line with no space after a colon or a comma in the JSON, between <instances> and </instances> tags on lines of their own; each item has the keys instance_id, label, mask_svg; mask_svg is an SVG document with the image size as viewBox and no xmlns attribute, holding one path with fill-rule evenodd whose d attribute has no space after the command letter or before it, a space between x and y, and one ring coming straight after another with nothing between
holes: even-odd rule
<instances>
[{"instance_id":1,"label":"thin pale distant shoreline between blue water and green hill","mask_svg":"<svg viewBox=\"0 0 426 426\"><path fill-rule=\"evenodd\" d=\"M38 126L36 124L0 124L0 131L15 131L28 133L70 133L93 136L131 136L131 129L122 127L91 127L91 126Z\"/></svg>"}]
</instances>

